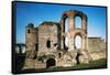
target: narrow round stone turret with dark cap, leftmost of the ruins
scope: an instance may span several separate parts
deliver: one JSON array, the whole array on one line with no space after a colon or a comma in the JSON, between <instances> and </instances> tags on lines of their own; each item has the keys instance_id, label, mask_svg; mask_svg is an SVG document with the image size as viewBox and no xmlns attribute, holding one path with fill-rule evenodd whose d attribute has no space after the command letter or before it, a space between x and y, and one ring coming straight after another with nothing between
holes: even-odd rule
<instances>
[{"instance_id":1,"label":"narrow round stone turret with dark cap, leftmost of the ruins","mask_svg":"<svg viewBox=\"0 0 110 75\"><path fill-rule=\"evenodd\" d=\"M37 28L34 28L33 23L29 23L25 30L26 55L24 67L33 68L35 65L34 58L37 55Z\"/></svg>"}]
</instances>

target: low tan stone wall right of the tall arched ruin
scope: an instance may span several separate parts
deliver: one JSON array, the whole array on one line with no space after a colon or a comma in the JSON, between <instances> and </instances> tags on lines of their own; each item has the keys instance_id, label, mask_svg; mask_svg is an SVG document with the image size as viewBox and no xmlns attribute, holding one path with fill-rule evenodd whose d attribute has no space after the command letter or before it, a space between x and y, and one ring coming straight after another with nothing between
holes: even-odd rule
<instances>
[{"instance_id":1,"label":"low tan stone wall right of the tall arched ruin","mask_svg":"<svg viewBox=\"0 0 110 75\"><path fill-rule=\"evenodd\" d=\"M88 38L88 52L92 60L106 58L106 42L101 38Z\"/></svg>"}]
</instances>

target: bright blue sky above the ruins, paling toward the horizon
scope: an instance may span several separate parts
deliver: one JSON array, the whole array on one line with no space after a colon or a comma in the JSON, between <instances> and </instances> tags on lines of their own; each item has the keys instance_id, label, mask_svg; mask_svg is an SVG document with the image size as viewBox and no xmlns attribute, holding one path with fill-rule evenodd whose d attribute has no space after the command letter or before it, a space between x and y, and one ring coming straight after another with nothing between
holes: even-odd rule
<instances>
[{"instance_id":1,"label":"bright blue sky above the ruins, paling toward the horizon","mask_svg":"<svg viewBox=\"0 0 110 75\"><path fill-rule=\"evenodd\" d=\"M33 23L38 26L44 21L59 22L64 11L79 10L88 17L88 36L101 36L106 41L106 8L76 6L76 4L48 4L16 2L15 6L15 33L16 43L25 43L25 26ZM80 19L76 18L76 24L80 24Z\"/></svg>"}]
</instances>

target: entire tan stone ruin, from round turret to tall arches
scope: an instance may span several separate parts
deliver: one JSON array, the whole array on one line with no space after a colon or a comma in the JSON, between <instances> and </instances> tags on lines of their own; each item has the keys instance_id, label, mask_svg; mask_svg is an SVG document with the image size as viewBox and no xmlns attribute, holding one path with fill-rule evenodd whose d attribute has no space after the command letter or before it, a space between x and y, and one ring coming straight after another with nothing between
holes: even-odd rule
<instances>
[{"instance_id":1,"label":"entire tan stone ruin, from round turret to tall arches","mask_svg":"<svg viewBox=\"0 0 110 75\"><path fill-rule=\"evenodd\" d=\"M76 17L81 18L81 28L76 28ZM65 32L66 19L68 19L67 32ZM34 28L32 23L28 24L25 28L26 55L23 68L38 69L75 66L79 63L88 64L92 56L88 50L87 20L84 12L69 10L63 13L61 23L43 22L37 28ZM75 47L77 35L81 38L80 49ZM65 45L66 36L68 38L68 47Z\"/></svg>"}]
</instances>

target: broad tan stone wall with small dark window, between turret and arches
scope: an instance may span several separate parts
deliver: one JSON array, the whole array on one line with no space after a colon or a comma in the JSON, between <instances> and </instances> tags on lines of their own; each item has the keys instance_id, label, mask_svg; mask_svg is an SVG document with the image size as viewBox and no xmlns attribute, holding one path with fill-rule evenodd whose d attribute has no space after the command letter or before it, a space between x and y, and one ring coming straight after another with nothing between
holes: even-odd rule
<instances>
[{"instance_id":1,"label":"broad tan stone wall with small dark window, between turret and arches","mask_svg":"<svg viewBox=\"0 0 110 75\"><path fill-rule=\"evenodd\" d=\"M59 28L54 23L43 23L38 26L37 55L56 54L55 44L58 44Z\"/></svg>"}]
</instances>

